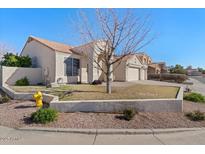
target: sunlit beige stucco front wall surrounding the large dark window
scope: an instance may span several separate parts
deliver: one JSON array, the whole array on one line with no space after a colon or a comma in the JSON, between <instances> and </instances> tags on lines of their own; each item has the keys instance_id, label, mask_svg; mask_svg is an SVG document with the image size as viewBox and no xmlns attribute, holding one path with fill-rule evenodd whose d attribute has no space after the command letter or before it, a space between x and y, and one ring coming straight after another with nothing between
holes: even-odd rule
<instances>
[{"instance_id":1,"label":"sunlit beige stucco front wall surrounding the large dark window","mask_svg":"<svg viewBox=\"0 0 205 154\"><path fill-rule=\"evenodd\" d=\"M63 79L63 83L76 83L80 81L80 75L79 76L67 76L65 73L65 59L70 57L70 58L77 58L80 59L79 55L74 55L74 54L68 54L68 53L62 53L62 52L55 52L55 57L56 57L56 74L55 74L55 82L57 82L58 78ZM81 61L80 61L81 63Z\"/></svg>"}]
</instances>

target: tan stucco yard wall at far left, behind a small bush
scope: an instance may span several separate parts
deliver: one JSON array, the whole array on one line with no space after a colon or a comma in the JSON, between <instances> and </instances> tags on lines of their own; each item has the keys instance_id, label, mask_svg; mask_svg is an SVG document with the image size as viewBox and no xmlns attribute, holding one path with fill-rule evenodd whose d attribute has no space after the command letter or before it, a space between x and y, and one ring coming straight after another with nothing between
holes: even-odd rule
<instances>
[{"instance_id":1,"label":"tan stucco yard wall at far left, behind a small bush","mask_svg":"<svg viewBox=\"0 0 205 154\"><path fill-rule=\"evenodd\" d=\"M30 84L42 83L41 68L22 68L2 66L2 84L15 85L16 81L27 77Z\"/></svg>"}]
</instances>

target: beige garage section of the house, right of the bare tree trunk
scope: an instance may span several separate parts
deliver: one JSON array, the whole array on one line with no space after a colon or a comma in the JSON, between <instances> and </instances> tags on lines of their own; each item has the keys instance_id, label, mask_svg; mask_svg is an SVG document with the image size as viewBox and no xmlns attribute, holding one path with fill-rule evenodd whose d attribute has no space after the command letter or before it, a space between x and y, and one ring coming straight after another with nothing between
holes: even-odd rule
<instances>
[{"instance_id":1,"label":"beige garage section of the house, right of the bare tree trunk","mask_svg":"<svg viewBox=\"0 0 205 154\"><path fill-rule=\"evenodd\" d=\"M115 63L113 69L114 81L147 80L147 65L141 62L138 54L126 56L120 63Z\"/></svg>"}]
</instances>

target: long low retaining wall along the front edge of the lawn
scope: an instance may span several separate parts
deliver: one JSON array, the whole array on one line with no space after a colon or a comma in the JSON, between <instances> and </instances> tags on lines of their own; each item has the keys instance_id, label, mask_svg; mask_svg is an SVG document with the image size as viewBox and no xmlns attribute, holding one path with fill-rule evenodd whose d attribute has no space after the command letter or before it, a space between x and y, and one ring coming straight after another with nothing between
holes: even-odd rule
<instances>
[{"instance_id":1,"label":"long low retaining wall along the front edge of the lawn","mask_svg":"<svg viewBox=\"0 0 205 154\"><path fill-rule=\"evenodd\" d=\"M51 101L50 107L60 112L121 112L128 108L140 112L182 112L183 88L176 99Z\"/></svg>"}]
</instances>

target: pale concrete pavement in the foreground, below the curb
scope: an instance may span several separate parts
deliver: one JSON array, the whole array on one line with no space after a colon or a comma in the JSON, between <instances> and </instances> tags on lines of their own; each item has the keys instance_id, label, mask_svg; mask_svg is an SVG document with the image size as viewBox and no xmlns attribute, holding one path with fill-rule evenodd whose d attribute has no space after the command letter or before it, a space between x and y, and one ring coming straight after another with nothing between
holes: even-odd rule
<instances>
[{"instance_id":1,"label":"pale concrete pavement in the foreground, below the curb","mask_svg":"<svg viewBox=\"0 0 205 154\"><path fill-rule=\"evenodd\" d=\"M205 129L163 134L89 135L45 131L23 131L0 126L0 144L205 144Z\"/></svg>"}]
</instances>

